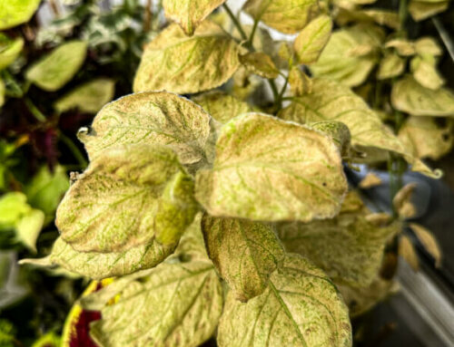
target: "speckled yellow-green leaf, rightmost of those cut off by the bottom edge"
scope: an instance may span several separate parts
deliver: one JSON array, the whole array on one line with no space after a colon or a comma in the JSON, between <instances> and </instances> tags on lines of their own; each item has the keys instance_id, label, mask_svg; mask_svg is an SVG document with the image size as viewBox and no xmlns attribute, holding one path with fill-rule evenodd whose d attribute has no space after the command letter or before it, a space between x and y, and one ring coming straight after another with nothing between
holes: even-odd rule
<instances>
[{"instance_id":1,"label":"speckled yellow-green leaf, rightmost of those cut off by the bottom edge","mask_svg":"<svg viewBox=\"0 0 454 347\"><path fill-rule=\"evenodd\" d=\"M288 255L262 295L242 304L228 294L217 342L220 347L347 347L349 313L320 269Z\"/></svg>"}]
</instances>

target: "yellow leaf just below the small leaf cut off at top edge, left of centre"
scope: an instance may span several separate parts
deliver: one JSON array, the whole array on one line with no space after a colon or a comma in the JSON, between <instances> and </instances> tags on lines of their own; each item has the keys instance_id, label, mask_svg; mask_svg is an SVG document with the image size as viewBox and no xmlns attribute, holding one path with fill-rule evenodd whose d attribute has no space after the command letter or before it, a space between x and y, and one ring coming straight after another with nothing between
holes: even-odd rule
<instances>
[{"instance_id":1,"label":"yellow leaf just below the small leaf cut off at top edge, left of centre","mask_svg":"<svg viewBox=\"0 0 454 347\"><path fill-rule=\"evenodd\" d=\"M239 46L216 24L203 22L192 37L175 25L145 47L134 92L208 91L227 82L239 67Z\"/></svg>"}]
</instances>

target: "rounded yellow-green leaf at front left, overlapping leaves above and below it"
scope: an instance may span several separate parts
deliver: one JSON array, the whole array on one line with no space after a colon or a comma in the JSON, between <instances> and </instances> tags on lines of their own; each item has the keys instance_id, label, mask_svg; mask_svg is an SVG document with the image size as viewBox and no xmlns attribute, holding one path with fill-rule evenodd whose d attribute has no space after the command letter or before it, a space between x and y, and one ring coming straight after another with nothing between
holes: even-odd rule
<instances>
[{"instance_id":1,"label":"rounded yellow-green leaf at front left, overlapping leaves above and below it","mask_svg":"<svg viewBox=\"0 0 454 347\"><path fill-rule=\"evenodd\" d=\"M193 204L183 205L192 192L183 189L171 201L163 195L175 185L180 189L179 182L190 179L184 175L176 155L163 146L105 150L67 191L55 225L81 252L121 252L161 233L179 233L195 215Z\"/></svg>"}]
</instances>

